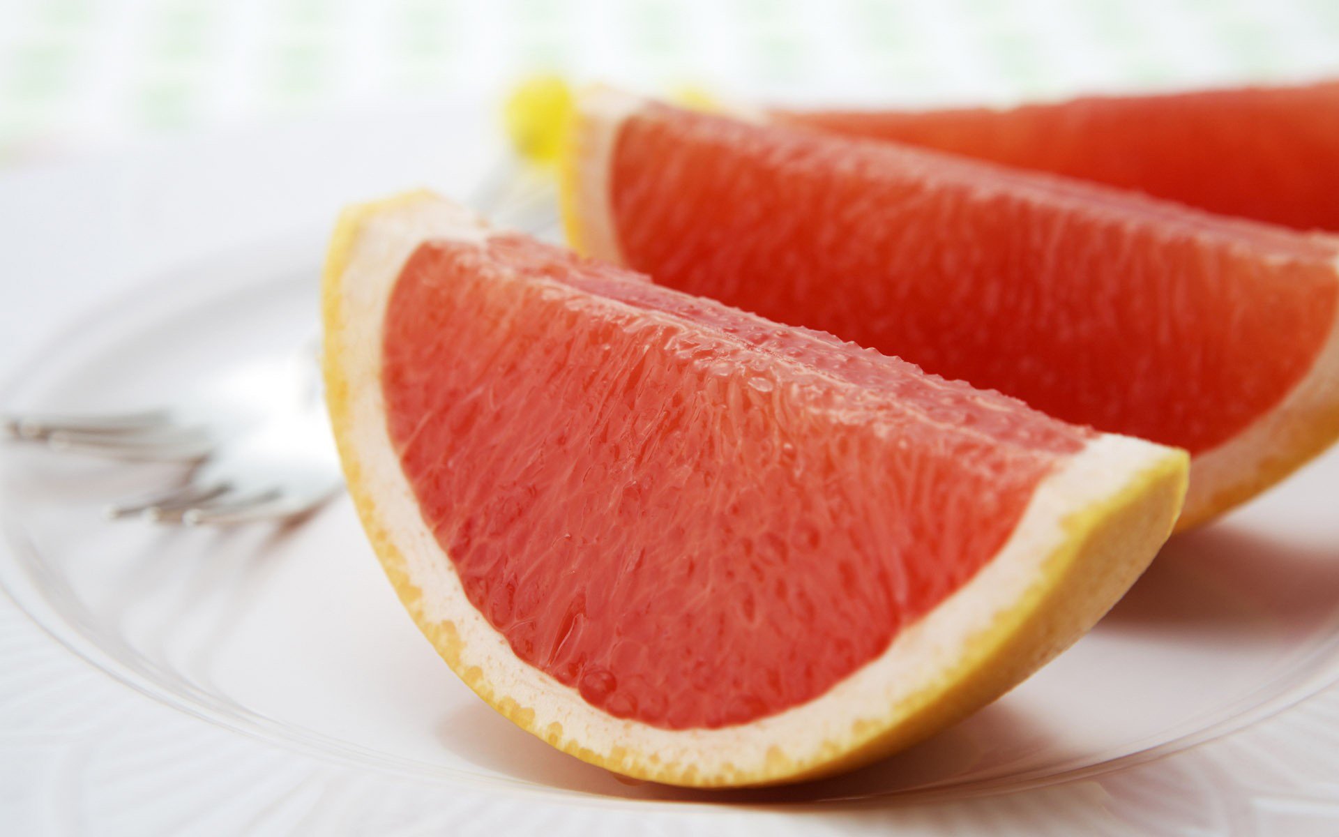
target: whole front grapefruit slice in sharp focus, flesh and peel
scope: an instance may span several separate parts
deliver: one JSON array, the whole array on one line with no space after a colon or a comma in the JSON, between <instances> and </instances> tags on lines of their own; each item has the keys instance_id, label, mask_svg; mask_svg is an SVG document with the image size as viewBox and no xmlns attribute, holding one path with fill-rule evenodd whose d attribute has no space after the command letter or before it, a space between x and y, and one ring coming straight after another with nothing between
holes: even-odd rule
<instances>
[{"instance_id":1,"label":"whole front grapefruit slice in sharp focus, flesh and peel","mask_svg":"<svg viewBox=\"0 0 1339 837\"><path fill-rule=\"evenodd\" d=\"M623 774L822 775L996 698L1166 538L1185 455L691 297L430 194L349 210L329 411L403 604Z\"/></svg>"}]
</instances>

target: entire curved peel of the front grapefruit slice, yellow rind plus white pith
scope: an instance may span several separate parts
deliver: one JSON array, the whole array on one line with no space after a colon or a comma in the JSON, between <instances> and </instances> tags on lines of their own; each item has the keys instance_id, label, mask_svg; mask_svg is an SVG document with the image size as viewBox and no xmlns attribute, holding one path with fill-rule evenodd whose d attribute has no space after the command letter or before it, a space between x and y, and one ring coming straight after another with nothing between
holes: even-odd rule
<instances>
[{"instance_id":1,"label":"entire curved peel of the front grapefruit slice, yellow rind plus white pith","mask_svg":"<svg viewBox=\"0 0 1339 837\"><path fill-rule=\"evenodd\" d=\"M1098 435L1046 478L1004 548L876 659L807 703L743 725L670 730L619 719L521 662L469 603L391 445L383 312L427 238L486 226L430 193L341 216L323 280L324 372L349 494L400 601L493 708L592 765L683 786L761 786L846 770L907 747L1008 691L1086 632L1168 537L1186 455Z\"/></svg>"}]
</instances>

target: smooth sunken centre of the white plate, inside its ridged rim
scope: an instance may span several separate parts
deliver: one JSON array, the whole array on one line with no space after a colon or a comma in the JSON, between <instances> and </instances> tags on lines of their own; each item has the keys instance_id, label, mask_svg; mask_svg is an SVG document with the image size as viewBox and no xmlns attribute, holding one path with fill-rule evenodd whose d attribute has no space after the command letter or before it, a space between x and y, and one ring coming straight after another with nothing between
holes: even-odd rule
<instances>
[{"instance_id":1,"label":"smooth sunken centre of the white plate, inside its ridged rim","mask_svg":"<svg viewBox=\"0 0 1339 837\"><path fill-rule=\"evenodd\" d=\"M52 341L9 407L170 400L195 375L315 327L321 232L183 265ZM8 446L0 580L60 641L225 727L428 782L572 802L791 804L992 794L1093 775L1237 730L1339 679L1339 455L1174 538L1031 680L908 753L811 785L703 794L628 783L489 710L396 603L345 501L292 530L110 524L126 470Z\"/></svg>"}]
</instances>

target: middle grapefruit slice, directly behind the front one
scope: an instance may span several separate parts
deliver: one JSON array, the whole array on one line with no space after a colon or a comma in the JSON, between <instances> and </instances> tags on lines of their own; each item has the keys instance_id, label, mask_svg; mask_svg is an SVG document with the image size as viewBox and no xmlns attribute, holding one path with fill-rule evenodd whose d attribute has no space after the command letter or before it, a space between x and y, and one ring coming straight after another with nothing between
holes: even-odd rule
<instances>
[{"instance_id":1,"label":"middle grapefruit slice, directly behind the front one","mask_svg":"<svg viewBox=\"0 0 1339 837\"><path fill-rule=\"evenodd\" d=\"M1186 449L1182 528L1339 435L1339 238L608 90L565 173L585 253Z\"/></svg>"}]
</instances>

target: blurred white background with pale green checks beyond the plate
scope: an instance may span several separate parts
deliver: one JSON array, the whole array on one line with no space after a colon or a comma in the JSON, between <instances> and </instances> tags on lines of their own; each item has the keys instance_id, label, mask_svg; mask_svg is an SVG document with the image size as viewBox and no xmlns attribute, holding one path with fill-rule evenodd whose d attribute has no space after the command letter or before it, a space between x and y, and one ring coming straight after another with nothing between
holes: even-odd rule
<instances>
[{"instance_id":1,"label":"blurred white background with pale green checks beyond the plate","mask_svg":"<svg viewBox=\"0 0 1339 837\"><path fill-rule=\"evenodd\" d=\"M0 165L432 107L534 71L937 103L1336 68L1334 0L3 0Z\"/></svg>"}]
</instances>

